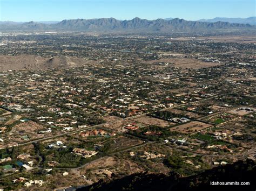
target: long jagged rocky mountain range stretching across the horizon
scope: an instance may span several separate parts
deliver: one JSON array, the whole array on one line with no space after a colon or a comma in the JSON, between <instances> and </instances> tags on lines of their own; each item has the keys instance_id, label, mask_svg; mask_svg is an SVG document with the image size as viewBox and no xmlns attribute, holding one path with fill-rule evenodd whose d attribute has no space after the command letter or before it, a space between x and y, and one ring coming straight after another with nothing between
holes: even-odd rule
<instances>
[{"instance_id":1,"label":"long jagged rocky mountain range stretching across the horizon","mask_svg":"<svg viewBox=\"0 0 256 191\"><path fill-rule=\"evenodd\" d=\"M0 31L84 31L99 33L169 33L169 32L199 32L232 29L255 29L250 24L232 24L228 22L199 22L174 18L170 20L147 20L138 17L132 20L117 20L115 18L71 19L58 23L47 22L1 22Z\"/></svg>"}]
</instances>

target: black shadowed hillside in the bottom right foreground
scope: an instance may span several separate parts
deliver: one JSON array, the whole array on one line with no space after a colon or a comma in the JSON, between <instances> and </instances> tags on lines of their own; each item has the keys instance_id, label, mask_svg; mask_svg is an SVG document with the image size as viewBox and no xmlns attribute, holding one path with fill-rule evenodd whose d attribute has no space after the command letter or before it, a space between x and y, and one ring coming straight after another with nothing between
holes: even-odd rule
<instances>
[{"instance_id":1,"label":"black shadowed hillside in the bottom right foreground","mask_svg":"<svg viewBox=\"0 0 256 191\"><path fill-rule=\"evenodd\" d=\"M111 182L98 182L78 190L255 190L253 160L219 166L201 174L181 178L178 174L132 174ZM250 186L211 186L211 181L250 182Z\"/></svg>"}]
</instances>

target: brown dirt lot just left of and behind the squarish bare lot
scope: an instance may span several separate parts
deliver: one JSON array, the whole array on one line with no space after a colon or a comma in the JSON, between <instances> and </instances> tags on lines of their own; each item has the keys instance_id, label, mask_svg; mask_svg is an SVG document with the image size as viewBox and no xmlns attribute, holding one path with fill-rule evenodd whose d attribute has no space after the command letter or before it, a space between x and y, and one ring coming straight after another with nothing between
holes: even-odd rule
<instances>
[{"instance_id":1,"label":"brown dirt lot just left of and behind the squarish bare lot","mask_svg":"<svg viewBox=\"0 0 256 191\"><path fill-rule=\"evenodd\" d=\"M146 125L160 126L161 128L166 128L167 126L171 126L175 124L175 123L164 121L162 119L157 119L157 118L148 117L148 116L139 117L133 120L139 123L144 123Z\"/></svg>"}]
</instances>

